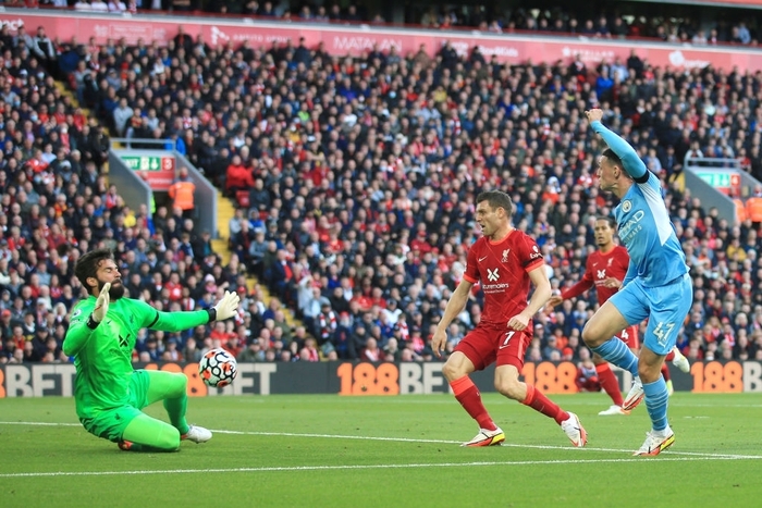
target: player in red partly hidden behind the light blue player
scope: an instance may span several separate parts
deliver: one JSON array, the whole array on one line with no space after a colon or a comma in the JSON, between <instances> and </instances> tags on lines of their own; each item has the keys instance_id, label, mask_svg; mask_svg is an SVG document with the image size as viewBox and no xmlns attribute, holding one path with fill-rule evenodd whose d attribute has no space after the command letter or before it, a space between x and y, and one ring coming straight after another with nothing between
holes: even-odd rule
<instances>
[{"instance_id":1,"label":"player in red partly hidden behind the light blue player","mask_svg":"<svg viewBox=\"0 0 762 508\"><path fill-rule=\"evenodd\" d=\"M614 244L614 226L615 222L612 218L601 216L595 220L595 244L598 245L598 250L588 256L585 264L585 275L577 284L562 290L561 295L553 296L549 305L555 307L568 298L581 295L594 285L598 294L598 303L602 306L619 290L622 281L625 280L627 268L629 267L629 255L626 248ZM627 344L627 347L635 355L638 355L640 340L637 325L626 327L617 337ZM686 371L690 368L688 360L677 348L669 352L666 359L672 360L680 370ZM622 392L619 392L619 382L611 371L609 362L595 354L593 354L592 361L595 364L601 387L614 402L609 409L599 412L599 414L627 414L628 411L622 409L624 399L622 398ZM666 364L662 365L662 374L664 380L671 384L669 370Z\"/></svg>"}]
</instances>

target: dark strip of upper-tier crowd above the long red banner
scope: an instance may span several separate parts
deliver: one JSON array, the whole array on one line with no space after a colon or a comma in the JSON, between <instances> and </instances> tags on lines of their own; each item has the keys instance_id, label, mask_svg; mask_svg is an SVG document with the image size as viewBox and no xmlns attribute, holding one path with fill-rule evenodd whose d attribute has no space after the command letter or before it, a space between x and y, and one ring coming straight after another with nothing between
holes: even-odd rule
<instances>
[{"instance_id":1,"label":"dark strip of upper-tier crowd above the long red banner","mask_svg":"<svg viewBox=\"0 0 762 508\"><path fill-rule=\"evenodd\" d=\"M17 8L52 7L96 13L179 14L218 13L259 20L299 23L386 24L379 5L366 2L280 2L278 0L9 0ZM740 7L740 5L737 5ZM427 28L476 28L493 34L544 33L594 38L652 38L667 42L759 46L760 23L755 11L705 7L687 11L677 5L638 4L595 9L588 5L558 4L538 9L533 3L501 4L420 3L405 10L404 21Z\"/></svg>"}]
</instances>

